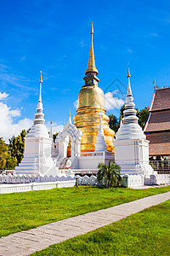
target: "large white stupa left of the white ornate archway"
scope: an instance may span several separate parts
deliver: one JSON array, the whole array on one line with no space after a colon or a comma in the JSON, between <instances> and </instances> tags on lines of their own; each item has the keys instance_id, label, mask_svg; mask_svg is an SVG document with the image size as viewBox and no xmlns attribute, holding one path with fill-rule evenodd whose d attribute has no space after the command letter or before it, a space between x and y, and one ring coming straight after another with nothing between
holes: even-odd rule
<instances>
[{"instance_id":1,"label":"large white stupa left of the white ornate archway","mask_svg":"<svg viewBox=\"0 0 170 256\"><path fill-rule=\"evenodd\" d=\"M31 130L26 136L24 158L20 165L15 168L16 174L57 174L54 161L51 158L52 138L44 125L44 114L42 113L42 73L40 78L40 94L37 103L37 113Z\"/></svg>"}]
</instances>

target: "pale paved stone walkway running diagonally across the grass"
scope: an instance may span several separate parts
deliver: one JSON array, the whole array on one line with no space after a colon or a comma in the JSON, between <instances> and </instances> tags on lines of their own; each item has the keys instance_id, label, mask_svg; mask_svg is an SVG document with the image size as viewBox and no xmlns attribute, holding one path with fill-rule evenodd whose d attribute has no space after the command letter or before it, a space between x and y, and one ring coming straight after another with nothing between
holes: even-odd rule
<instances>
[{"instance_id":1,"label":"pale paved stone walkway running diagonally across the grass","mask_svg":"<svg viewBox=\"0 0 170 256\"><path fill-rule=\"evenodd\" d=\"M169 199L170 192L152 195L116 207L67 218L40 226L37 229L5 236L0 239L0 255L29 255L60 241L86 234Z\"/></svg>"}]
</instances>

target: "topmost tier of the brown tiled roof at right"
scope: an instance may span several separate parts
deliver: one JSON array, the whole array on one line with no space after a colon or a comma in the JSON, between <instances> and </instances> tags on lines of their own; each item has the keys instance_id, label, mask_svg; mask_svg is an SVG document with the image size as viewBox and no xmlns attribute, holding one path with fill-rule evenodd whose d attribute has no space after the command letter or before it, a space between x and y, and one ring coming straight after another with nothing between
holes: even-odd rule
<instances>
[{"instance_id":1,"label":"topmost tier of the brown tiled roof at right","mask_svg":"<svg viewBox=\"0 0 170 256\"><path fill-rule=\"evenodd\" d=\"M156 90L156 96L150 111L170 109L170 87Z\"/></svg>"}]
</instances>

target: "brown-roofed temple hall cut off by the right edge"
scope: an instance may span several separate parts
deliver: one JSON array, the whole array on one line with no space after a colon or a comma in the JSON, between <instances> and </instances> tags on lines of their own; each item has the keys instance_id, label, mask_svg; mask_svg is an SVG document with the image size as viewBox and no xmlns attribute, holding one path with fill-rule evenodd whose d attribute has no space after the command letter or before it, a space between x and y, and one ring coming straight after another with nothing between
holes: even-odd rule
<instances>
[{"instance_id":1,"label":"brown-roofed temple hall cut off by the right edge","mask_svg":"<svg viewBox=\"0 0 170 256\"><path fill-rule=\"evenodd\" d=\"M156 87L144 127L150 141L150 163L158 173L170 173L170 87Z\"/></svg>"}]
</instances>

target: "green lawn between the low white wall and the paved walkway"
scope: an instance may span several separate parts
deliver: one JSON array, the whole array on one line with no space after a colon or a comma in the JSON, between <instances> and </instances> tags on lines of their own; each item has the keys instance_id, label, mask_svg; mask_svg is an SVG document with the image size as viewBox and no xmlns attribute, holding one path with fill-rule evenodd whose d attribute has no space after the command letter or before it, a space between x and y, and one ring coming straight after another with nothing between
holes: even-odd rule
<instances>
[{"instance_id":1,"label":"green lawn between the low white wall and the paved walkway","mask_svg":"<svg viewBox=\"0 0 170 256\"><path fill-rule=\"evenodd\" d=\"M0 236L167 191L170 191L170 186L153 189L100 189L79 186L1 194Z\"/></svg>"}]
</instances>

